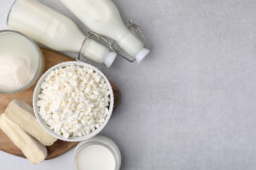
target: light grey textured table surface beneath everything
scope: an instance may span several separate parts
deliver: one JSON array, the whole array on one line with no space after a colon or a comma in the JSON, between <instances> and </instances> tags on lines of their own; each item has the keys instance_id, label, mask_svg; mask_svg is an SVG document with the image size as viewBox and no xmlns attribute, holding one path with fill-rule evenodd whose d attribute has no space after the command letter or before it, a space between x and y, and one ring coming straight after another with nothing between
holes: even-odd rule
<instances>
[{"instance_id":1,"label":"light grey textured table surface beneath everything","mask_svg":"<svg viewBox=\"0 0 256 170\"><path fill-rule=\"evenodd\" d=\"M0 1L0 29L12 2ZM256 169L256 1L114 3L151 42L141 63L103 70L122 93L100 133L119 146L121 169ZM0 169L72 169L73 152L39 165L0 152Z\"/></svg>"}]
</instances>

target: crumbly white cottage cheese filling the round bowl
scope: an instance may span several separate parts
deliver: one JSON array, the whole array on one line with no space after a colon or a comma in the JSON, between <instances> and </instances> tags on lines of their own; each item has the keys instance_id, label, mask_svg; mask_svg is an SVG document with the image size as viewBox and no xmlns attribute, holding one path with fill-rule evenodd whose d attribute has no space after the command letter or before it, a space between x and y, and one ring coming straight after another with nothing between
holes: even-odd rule
<instances>
[{"instance_id":1,"label":"crumbly white cottage cheese filling the round bowl","mask_svg":"<svg viewBox=\"0 0 256 170\"><path fill-rule=\"evenodd\" d=\"M51 71L38 97L41 118L66 139L89 135L108 115L110 91L91 68L70 65Z\"/></svg>"}]
</instances>

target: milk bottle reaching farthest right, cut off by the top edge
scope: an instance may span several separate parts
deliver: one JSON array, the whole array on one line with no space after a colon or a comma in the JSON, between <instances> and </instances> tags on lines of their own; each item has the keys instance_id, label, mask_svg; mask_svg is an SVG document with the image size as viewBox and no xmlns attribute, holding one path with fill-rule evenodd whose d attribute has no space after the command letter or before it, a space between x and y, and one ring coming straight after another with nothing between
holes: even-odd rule
<instances>
[{"instance_id":1,"label":"milk bottle reaching farthest right, cut off by the top edge","mask_svg":"<svg viewBox=\"0 0 256 170\"><path fill-rule=\"evenodd\" d=\"M127 54L141 61L150 51L125 27L111 0L59 0L89 29L114 39Z\"/></svg>"}]
</instances>

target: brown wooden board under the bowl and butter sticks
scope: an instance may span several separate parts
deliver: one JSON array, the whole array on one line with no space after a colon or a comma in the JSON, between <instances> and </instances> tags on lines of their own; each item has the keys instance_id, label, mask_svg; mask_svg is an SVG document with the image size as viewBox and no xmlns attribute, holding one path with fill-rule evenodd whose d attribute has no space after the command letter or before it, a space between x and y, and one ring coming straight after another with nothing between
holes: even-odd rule
<instances>
[{"instance_id":1,"label":"brown wooden board under the bowl and butter sticks","mask_svg":"<svg viewBox=\"0 0 256 170\"><path fill-rule=\"evenodd\" d=\"M54 52L53 50L48 50L45 48L41 48L44 56L45 56L45 71L47 71L49 68L53 67L54 65L58 63L62 63L65 61L74 61L74 59L69 58L68 56L64 56L63 54L60 54L58 52ZM112 89L114 92L114 109L116 109L121 93L119 92L118 88L115 84L110 82L112 85ZM28 90L25 90L24 92L15 93L15 94L0 94L0 114L5 112L5 109L9 105L9 103L13 99L19 99L20 101L24 101L25 103L28 103L32 106L32 97L33 97L33 90L35 86L32 88L29 88ZM51 160L53 158L56 158L66 152L68 150L74 148L77 145L77 142L66 142L66 141L56 141L53 145L47 146L48 156L46 160ZM1 131L0 129L0 150L3 152L7 152L9 154L13 154L15 156L20 156L22 158L25 158L24 154L22 154L22 151L17 148L12 141Z\"/></svg>"}]
</instances>

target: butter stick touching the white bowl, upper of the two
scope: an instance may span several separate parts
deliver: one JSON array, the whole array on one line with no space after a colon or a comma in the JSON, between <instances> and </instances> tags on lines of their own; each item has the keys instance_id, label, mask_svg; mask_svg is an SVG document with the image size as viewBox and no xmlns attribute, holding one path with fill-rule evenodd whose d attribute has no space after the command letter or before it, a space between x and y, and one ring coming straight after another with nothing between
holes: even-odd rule
<instances>
[{"instance_id":1,"label":"butter stick touching the white bowl, upper of the two","mask_svg":"<svg viewBox=\"0 0 256 170\"><path fill-rule=\"evenodd\" d=\"M11 101L5 110L5 115L45 146L50 146L57 140L40 126L35 118L33 108L22 101L16 99Z\"/></svg>"}]
</instances>

